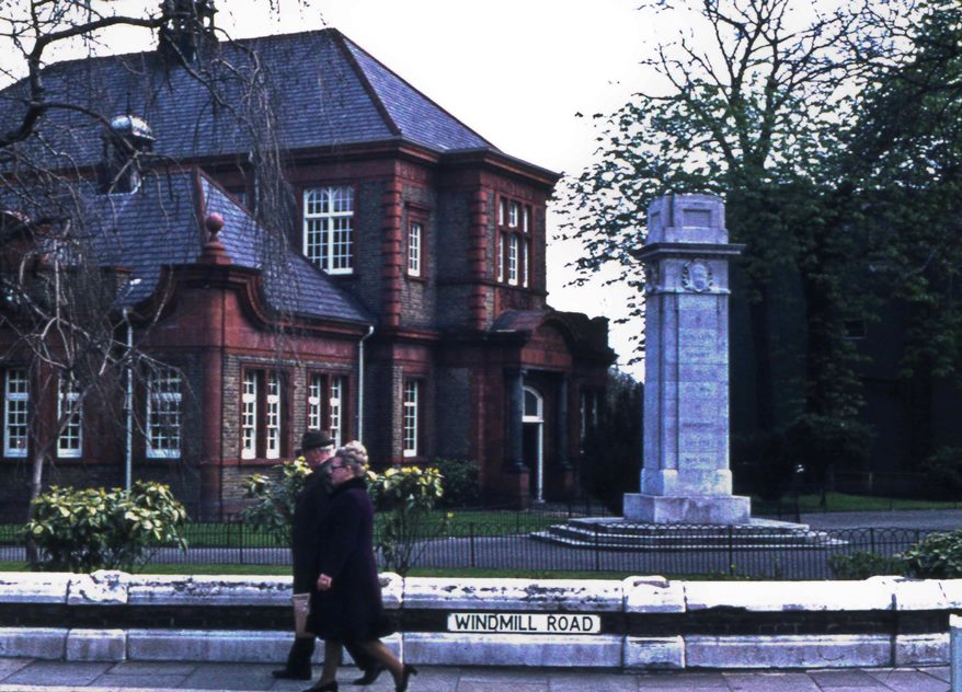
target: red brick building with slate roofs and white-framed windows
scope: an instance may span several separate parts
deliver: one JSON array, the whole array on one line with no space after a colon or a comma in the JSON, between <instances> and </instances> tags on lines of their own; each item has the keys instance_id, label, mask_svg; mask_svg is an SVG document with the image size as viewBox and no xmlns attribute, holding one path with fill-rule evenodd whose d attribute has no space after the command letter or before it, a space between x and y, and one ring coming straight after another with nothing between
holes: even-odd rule
<instances>
[{"instance_id":1,"label":"red brick building with slate roofs and white-framed windows","mask_svg":"<svg viewBox=\"0 0 962 692\"><path fill-rule=\"evenodd\" d=\"M135 396L134 476L216 517L240 505L242 476L323 427L362 438L378 465L476 460L492 497L571 491L614 354L606 320L547 303L558 174L500 151L335 30L215 49L234 69L256 60L268 82L293 219L283 247L252 210L263 191L255 135L232 119L240 88L211 106L156 51L46 76L58 97L121 116L116 132L162 163L130 192L91 186L88 204L103 265L127 277L134 338L171 367ZM4 95L9 113L15 88ZM103 128L78 117L51 113L47 141L61 137L90 177L108 158ZM41 427L24 401L57 394L28 381L11 334L0 341L0 481L16 494ZM122 441L85 423L56 446L48 483L123 482Z\"/></svg>"}]
</instances>

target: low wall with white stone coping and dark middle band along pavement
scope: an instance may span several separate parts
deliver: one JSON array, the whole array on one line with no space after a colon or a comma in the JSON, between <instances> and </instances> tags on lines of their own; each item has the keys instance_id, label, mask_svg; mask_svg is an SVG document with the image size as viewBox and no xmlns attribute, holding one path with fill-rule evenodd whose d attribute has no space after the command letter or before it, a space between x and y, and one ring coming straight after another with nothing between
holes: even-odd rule
<instances>
[{"instance_id":1,"label":"low wall with white stone coping and dark middle band along pavement","mask_svg":"<svg viewBox=\"0 0 962 692\"><path fill-rule=\"evenodd\" d=\"M929 666L962 580L668 581L381 575L413 664L603 668ZM290 579L0 573L0 657L280 662ZM589 614L597 634L463 633L449 613Z\"/></svg>"}]
</instances>

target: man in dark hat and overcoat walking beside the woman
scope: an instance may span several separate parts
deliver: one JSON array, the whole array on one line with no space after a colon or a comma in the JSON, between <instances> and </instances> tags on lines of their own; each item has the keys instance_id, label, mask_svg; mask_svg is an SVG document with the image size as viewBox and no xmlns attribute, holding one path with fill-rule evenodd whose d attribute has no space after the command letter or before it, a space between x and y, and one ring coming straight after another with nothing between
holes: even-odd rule
<instances>
[{"instance_id":1,"label":"man in dark hat and overcoat walking beside the woman","mask_svg":"<svg viewBox=\"0 0 962 692\"><path fill-rule=\"evenodd\" d=\"M294 592L310 593L316 589L318 562L318 531L333 491L328 465L334 455L334 439L321 430L307 430L300 442L300 453L311 468L305 486L295 499L294 522L290 535L290 554L294 563ZM364 674L354 684L370 684L383 670L363 650L347 649ZM272 671L275 678L310 680L311 656L314 653L314 635L295 636L287 655L287 664Z\"/></svg>"}]
</instances>

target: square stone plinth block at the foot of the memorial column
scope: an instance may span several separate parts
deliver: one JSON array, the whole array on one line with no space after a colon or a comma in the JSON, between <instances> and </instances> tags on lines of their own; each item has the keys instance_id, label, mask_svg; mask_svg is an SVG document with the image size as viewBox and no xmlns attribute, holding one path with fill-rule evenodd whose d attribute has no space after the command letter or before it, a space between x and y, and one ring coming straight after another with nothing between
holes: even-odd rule
<instances>
[{"instance_id":1,"label":"square stone plinth block at the foot of the memorial column","mask_svg":"<svg viewBox=\"0 0 962 692\"><path fill-rule=\"evenodd\" d=\"M741 495L672 497L625 494L625 521L743 524L751 520L752 501Z\"/></svg>"}]
</instances>

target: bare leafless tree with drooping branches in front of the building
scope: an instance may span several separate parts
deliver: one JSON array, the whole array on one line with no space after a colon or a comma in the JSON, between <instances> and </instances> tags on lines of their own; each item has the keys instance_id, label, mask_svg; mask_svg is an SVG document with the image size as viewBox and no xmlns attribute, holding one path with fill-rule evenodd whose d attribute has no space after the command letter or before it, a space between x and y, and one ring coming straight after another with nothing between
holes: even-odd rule
<instances>
[{"instance_id":1,"label":"bare leafless tree with drooping branches in front of the building","mask_svg":"<svg viewBox=\"0 0 962 692\"><path fill-rule=\"evenodd\" d=\"M161 318L167 298L154 296L130 310L127 272L114 261L123 242L113 223L117 209L93 193L125 186L162 188L179 171L177 157L154 152L149 130L133 114L105 111L94 83L54 79L57 60L80 47L94 56L125 32L150 32L157 58L202 84L208 108L226 114L247 141L247 173L259 191L250 206L264 221L264 270L280 275L291 195L274 122L274 94L259 56L214 23L211 0L163 0L142 14L123 14L111 0L22 0L0 2L0 74L11 85L0 92L0 361L26 362L41 407L57 411L48 427L32 423L30 499L41 493L45 466L80 411L128 429L130 378L165 367L144 339ZM129 7L129 5L123 5ZM279 12L278 0L271 7ZM121 61L137 72L142 62ZM54 77L51 77L54 76ZM159 89L159 88L158 88ZM127 117L117 122L118 115ZM98 165L113 157L113 166ZM187 157L190 158L190 157ZM16 210L16 211L12 211ZM157 220L163 232L163 219ZM184 257L193 261L194 257ZM279 264L278 264L279 263ZM275 266L277 265L277 266ZM136 339L128 334L136 326ZM94 403L96 402L96 403ZM142 430L141 430L142 431Z\"/></svg>"}]
</instances>

